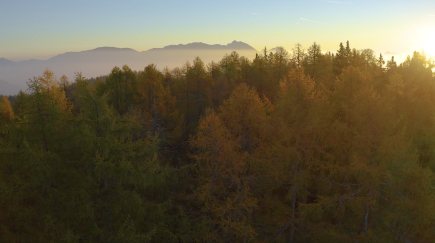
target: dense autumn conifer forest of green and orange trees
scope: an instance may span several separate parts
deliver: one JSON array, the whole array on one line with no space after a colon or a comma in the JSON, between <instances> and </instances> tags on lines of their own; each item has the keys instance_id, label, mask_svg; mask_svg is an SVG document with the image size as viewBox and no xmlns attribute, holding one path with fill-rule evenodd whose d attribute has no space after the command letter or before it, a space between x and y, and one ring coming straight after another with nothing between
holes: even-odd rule
<instances>
[{"instance_id":1,"label":"dense autumn conifer forest of green and orange trees","mask_svg":"<svg viewBox=\"0 0 435 243\"><path fill-rule=\"evenodd\" d=\"M434 242L434 68L347 41L47 69L0 100L0 242Z\"/></svg>"}]
</instances>

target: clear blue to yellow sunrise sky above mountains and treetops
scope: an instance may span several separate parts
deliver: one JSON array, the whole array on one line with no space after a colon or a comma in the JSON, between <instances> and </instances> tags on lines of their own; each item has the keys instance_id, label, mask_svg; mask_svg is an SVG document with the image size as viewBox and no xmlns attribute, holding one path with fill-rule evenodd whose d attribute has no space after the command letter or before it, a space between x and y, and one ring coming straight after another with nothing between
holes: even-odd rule
<instances>
[{"instance_id":1,"label":"clear blue to yellow sunrise sky above mountains and treetops","mask_svg":"<svg viewBox=\"0 0 435 243\"><path fill-rule=\"evenodd\" d=\"M48 59L97 47L146 51L233 40L257 50L313 42L435 55L433 0L0 0L0 57Z\"/></svg>"}]
</instances>

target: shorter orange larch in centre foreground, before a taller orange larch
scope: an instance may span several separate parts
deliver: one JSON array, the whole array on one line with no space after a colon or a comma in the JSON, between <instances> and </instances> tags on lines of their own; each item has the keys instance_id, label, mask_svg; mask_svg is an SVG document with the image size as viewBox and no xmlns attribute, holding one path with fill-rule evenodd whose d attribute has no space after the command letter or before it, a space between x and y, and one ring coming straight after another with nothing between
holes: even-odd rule
<instances>
[{"instance_id":1,"label":"shorter orange larch in centre foreground, before a taller orange larch","mask_svg":"<svg viewBox=\"0 0 435 243\"><path fill-rule=\"evenodd\" d=\"M257 200L245 175L247 152L239 151L241 145L213 113L201 121L198 130L190 142L197 150L191 155L198 170L193 195L201 208L197 220L206 228L197 241L253 241L257 234L251 220Z\"/></svg>"}]
</instances>

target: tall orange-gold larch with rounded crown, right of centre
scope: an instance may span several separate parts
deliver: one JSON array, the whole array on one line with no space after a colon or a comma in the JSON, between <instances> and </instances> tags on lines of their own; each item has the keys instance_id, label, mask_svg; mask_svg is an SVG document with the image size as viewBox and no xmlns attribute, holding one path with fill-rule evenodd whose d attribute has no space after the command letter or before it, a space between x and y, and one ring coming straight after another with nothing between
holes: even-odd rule
<instances>
[{"instance_id":1,"label":"tall orange-gold larch with rounded crown, right of centre","mask_svg":"<svg viewBox=\"0 0 435 243\"><path fill-rule=\"evenodd\" d=\"M303 223L297 216L298 205L306 203L311 194L310 174L321 153L320 127L325 127L328 117L324 114L322 100L316 95L315 81L305 75L303 68L291 69L280 82L276 109L280 121L275 125L276 134L282 136L273 143L276 168L271 169L271 174L282 194L270 195L277 196L279 204L275 203L274 207L281 211L275 219L274 237L297 242L303 235L300 234Z\"/></svg>"}]
</instances>

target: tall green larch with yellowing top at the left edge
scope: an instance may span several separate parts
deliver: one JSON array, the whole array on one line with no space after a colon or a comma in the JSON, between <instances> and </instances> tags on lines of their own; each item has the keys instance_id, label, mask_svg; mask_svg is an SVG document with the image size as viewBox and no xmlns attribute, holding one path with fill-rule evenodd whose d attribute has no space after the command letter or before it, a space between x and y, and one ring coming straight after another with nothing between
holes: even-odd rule
<instances>
[{"instance_id":1,"label":"tall green larch with yellowing top at the left edge","mask_svg":"<svg viewBox=\"0 0 435 243\"><path fill-rule=\"evenodd\" d=\"M18 95L18 119L0 130L0 221L7 222L2 231L17 242L49 240L60 233L53 219L61 210L56 201L65 192L60 184L68 171L60 160L70 139L71 109L65 94L48 69L28 86L29 95Z\"/></svg>"}]
</instances>

